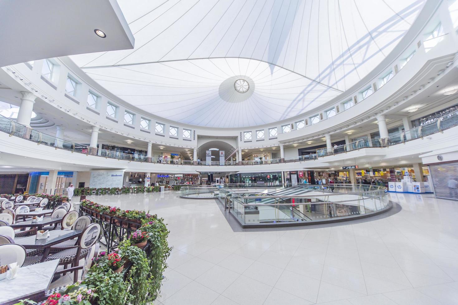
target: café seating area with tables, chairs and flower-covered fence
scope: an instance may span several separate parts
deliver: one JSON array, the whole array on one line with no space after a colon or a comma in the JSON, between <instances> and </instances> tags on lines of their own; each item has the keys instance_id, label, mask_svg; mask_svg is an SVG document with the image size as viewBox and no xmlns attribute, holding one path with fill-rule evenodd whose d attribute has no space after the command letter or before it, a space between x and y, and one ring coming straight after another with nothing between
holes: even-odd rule
<instances>
[{"instance_id":1,"label":"caf\u00e9 seating area with tables, chairs and flower-covered fence","mask_svg":"<svg viewBox=\"0 0 458 305\"><path fill-rule=\"evenodd\" d=\"M129 282L140 281L135 276L141 277L145 296L136 304L146 304L157 297L171 249L166 241L168 230L156 215L136 211L142 219L129 222L115 214L104 215L100 212L102 207L89 200L83 200L75 210L72 203L53 204L48 198L35 196L0 198L0 205L0 290L24 281L20 291L2 294L0 304L17 304L24 299L38 304L59 300L57 295L66 295L66 289L75 291L74 285L49 287L55 287L52 282L67 273L76 283L76 290L91 287L93 291L103 289L105 282L100 281L100 276L119 281L124 292L138 289ZM106 206L103 209L122 211ZM91 304L125 304L129 298L125 293L114 299L88 295L93 298Z\"/></svg>"}]
</instances>

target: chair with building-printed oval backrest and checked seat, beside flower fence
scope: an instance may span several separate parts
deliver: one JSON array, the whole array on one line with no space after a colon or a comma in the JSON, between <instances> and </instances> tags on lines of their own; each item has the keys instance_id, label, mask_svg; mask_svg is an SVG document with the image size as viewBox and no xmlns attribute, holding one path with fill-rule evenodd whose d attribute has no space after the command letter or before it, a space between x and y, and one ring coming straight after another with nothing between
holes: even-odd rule
<instances>
[{"instance_id":1,"label":"chair with building-printed oval backrest and checked seat, beside flower fence","mask_svg":"<svg viewBox=\"0 0 458 305\"><path fill-rule=\"evenodd\" d=\"M91 247L98 241L101 227L97 223L93 223L87 226L83 230L82 234L78 237L75 246L61 247L59 252L53 253L44 259L44 261L50 261L53 259L60 259L59 265L67 266L71 264L71 268L64 268L60 273L73 272L73 282L78 280L78 269L84 268L84 266L78 266L79 261L86 257L87 253L91 251ZM41 256L26 257L23 266L29 266L41 262Z\"/></svg>"}]
</instances>

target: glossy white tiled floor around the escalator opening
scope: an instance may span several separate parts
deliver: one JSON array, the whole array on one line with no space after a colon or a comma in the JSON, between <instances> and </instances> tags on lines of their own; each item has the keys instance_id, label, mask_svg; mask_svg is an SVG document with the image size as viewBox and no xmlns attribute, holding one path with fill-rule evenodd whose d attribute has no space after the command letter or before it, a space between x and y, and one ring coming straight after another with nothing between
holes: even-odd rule
<instances>
[{"instance_id":1,"label":"glossy white tiled floor around the escalator opening","mask_svg":"<svg viewBox=\"0 0 458 305\"><path fill-rule=\"evenodd\" d=\"M386 214L299 229L240 229L177 192L90 199L149 209L171 231L155 304L458 304L458 202L390 194Z\"/></svg>"}]
</instances>

